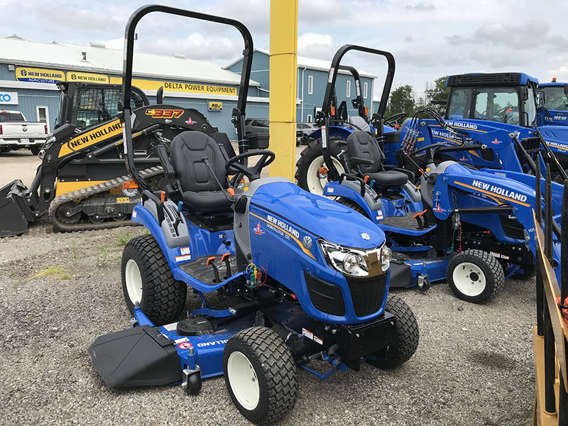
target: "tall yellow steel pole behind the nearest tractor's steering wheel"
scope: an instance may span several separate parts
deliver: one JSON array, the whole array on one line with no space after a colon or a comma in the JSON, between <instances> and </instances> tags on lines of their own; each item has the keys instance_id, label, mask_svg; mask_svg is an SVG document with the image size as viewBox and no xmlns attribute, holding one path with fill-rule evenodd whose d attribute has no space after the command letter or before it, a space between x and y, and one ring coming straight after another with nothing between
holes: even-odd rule
<instances>
[{"instance_id":1,"label":"tall yellow steel pole behind the nearest tractor's steering wheel","mask_svg":"<svg viewBox=\"0 0 568 426\"><path fill-rule=\"evenodd\" d=\"M271 0L270 149L276 160L269 175L294 180L296 163L298 0Z\"/></svg>"}]
</instances>

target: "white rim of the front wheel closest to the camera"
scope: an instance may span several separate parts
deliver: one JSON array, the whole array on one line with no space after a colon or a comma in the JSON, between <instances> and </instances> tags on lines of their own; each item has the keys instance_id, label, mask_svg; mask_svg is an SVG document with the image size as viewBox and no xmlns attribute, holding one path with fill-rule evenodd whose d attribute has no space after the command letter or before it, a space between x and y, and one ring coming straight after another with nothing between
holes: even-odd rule
<instances>
[{"instance_id":1,"label":"white rim of the front wheel closest to the camera","mask_svg":"<svg viewBox=\"0 0 568 426\"><path fill-rule=\"evenodd\" d=\"M246 410L254 410L261 399L261 388L251 361L242 352L235 351L229 355L226 370L236 400Z\"/></svg>"}]
</instances>

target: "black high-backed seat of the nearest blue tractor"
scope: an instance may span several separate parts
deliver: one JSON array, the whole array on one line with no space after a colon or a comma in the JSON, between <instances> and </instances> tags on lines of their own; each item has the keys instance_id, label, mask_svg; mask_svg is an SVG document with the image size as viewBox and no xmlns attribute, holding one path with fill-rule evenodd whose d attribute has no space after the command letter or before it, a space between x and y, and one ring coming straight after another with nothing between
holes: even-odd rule
<instances>
[{"instance_id":1,"label":"black high-backed seat of the nearest blue tractor","mask_svg":"<svg viewBox=\"0 0 568 426\"><path fill-rule=\"evenodd\" d=\"M207 158L209 166L205 165ZM229 178L225 170L225 155L217 142L199 131L184 131L173 138L170 146L170 165L178 182L180 200L195 212L223 212L231 208ZM165 167L168 170L167 166ZM221 183L223 190L219 188ZM234 188L236 195L243 192ZM229 197L229 198L227 198Z\"/></svg>"}]
</instances>

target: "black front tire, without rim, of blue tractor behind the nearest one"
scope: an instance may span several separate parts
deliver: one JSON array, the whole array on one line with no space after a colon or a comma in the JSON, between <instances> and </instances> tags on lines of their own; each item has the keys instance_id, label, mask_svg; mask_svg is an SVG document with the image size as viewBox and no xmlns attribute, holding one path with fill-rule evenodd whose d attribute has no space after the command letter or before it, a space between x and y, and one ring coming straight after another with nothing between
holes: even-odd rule
<instances>
[{"instance_id":1,"label":"black front tire, without rim, of blue tractor behind the nearest one","mask_svg":"<svg viewBox=\"0 0 568 426\"><path fill-rule=\"evenodd\" d=\"M467 295L459 290L459 285L454 281L454 271L463 263L474 263L484 273L485 288L481 293ZM505 273L501 263L491 256L491 253L483 250L469 249L457 254L449 261L446 274L452 293L459 299L472 303L485 303L493 299L505 283Z\"/></svg>"}]
</instances>

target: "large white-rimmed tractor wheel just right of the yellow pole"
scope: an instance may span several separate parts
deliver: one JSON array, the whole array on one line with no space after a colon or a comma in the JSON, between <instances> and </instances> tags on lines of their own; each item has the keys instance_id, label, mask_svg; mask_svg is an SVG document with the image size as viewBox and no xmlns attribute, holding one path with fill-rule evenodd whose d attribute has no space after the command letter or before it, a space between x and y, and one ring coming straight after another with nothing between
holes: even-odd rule
<instances>
[{"instance_id":1,"label":"large white-rimmed tractor wheel just right of the yellow pole","mask_svg":"<svg viewBox=\"0 0 568 426\"><path fill-rule=\"evenodd\" d=\"M339 141L344 141L344 139L329 139L329 143L331 143L332 148L333 163L341 175L345 172L345 169L342 163L337 159L337 154L340 151ZM296 163L297 170L295 178L297 180L297 185L302 188L302 190L322 195L324 193L324 186L327 183L327 174L325 177L322 177L322 175L320 175L320 169L325 167L322 140L317 139L316 141L308 143L307 147L300 154L300 159L297 160Z\"/></svg>"}]
</instances>

